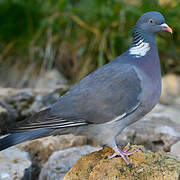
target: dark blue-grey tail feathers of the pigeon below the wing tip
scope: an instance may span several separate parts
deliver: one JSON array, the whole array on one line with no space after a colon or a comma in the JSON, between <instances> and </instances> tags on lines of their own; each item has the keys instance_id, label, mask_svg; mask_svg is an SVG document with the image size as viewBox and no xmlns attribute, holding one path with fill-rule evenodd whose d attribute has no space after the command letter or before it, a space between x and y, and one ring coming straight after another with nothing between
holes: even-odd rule
<instances>
[{"instance_id":1,"label":"dark blue-grey tail feathers of the pigeon below the wing tip","mask_svg":"<svg viewBox=\"0 0 180 180\"><path fill-rule=\"evenodd\" d=\"M51 133L52 129L38 129L33 131L15 132L0 139L0 151L27 140L36 139Z\"/></svg>"}]
</instances>

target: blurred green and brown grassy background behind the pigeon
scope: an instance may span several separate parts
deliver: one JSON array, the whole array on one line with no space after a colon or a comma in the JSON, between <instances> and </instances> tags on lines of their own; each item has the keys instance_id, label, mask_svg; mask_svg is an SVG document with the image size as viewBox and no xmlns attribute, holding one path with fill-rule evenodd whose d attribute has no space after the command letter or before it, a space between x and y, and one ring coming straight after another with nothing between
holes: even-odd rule
<instances>
[{"instance_id":1,"label":"blurred green and brown grassy background behind the pigeon","mask_svg":"<svg viewBox=\"0 0 180 180\"><path fill-rule=\"evenodd\" d=\"M77 82L124 52L152 10L174 30L157 38L162 73L180 73L179 0L0 0L0 75L56 68Z\"/></svg>"}]
</instances>

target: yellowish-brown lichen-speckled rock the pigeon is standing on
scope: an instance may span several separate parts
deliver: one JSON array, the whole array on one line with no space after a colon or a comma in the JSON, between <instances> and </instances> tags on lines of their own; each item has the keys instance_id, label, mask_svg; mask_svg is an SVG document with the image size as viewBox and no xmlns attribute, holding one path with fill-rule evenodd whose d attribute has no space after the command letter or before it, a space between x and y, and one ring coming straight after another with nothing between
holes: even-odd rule
<instances>
[{"instance_id":1,"label":"yellowish-brown lichen-speckled rock the pigeon is standing on","mask_svg":"<svg viewBox=\"0 0 180 180\"><path fill-rule=\"evenodd\" d=\"M132 167L121 157L105 159L112 153L112 149L105 148L81 157L63 180L175 180L179 177L180 160L165 152L136 152L128 157Z\"/></svg>"}]
</instances>

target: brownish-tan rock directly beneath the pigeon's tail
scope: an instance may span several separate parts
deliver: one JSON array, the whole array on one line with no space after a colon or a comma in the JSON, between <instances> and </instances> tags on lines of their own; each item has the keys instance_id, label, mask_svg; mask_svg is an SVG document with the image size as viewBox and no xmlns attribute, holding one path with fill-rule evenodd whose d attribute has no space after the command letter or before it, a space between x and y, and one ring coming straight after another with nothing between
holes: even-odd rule
<instances>
[{"instance_id":1,"label":"brownish-tan rock directly beneath the pigeon's tail","mask_svg":"<svg viewBox=\"0 0 180 180\"><path fill-rule=\"evenodd\" d=\"M17 145L17 147L23 151L29 152L31 159L40 163L42 166L54 151L85 144L87 144L87 138L85 136L68 134L27 141Z\"/></svg>"}]
</instances>

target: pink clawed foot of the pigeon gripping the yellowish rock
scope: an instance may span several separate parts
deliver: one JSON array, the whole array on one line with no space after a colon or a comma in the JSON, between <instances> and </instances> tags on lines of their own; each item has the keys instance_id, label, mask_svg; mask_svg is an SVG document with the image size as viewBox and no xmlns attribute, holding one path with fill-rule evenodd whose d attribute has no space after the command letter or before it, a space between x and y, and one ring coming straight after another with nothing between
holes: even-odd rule
<instances>
[{"instance_id":1,"label":"pink clawed foot of the pigeon gripping the yellowish rock","mask_svg":"<svg viewBox=\"0 0 180 180\"><path fill-rule=\"evenodd\" d=\"M114 149L115 152L114 152L113 155L108 156L108 159L112 159L112 158L114 158L116 156L121 156L124 159L124 161L127 163L127 165L130 165L130 162L127 160L126 156L132 155L135 152L139 151L139 148L136 148L135 150L129 152L128 151L130 149L129 144L126 145L124 150L121 150L118 147L115 147L113 149Z\"/></svg>"}]
</instances>

